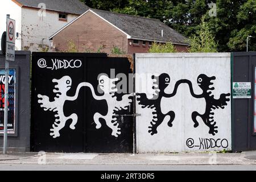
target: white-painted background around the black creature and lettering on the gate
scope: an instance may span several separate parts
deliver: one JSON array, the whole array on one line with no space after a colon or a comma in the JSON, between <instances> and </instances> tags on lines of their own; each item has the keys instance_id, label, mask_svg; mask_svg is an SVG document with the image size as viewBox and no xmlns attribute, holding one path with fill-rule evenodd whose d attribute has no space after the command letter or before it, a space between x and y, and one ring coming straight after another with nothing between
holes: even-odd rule
<instances>
[{"instance_id":1,"label":"white-painted background around the black creature and lettering on the gate","mask_svg":"<svg viewBox=\"0 0 256 182\"><path fill-rule=\"evenodd\" d=\"M201 88L197 85L197 76L203 73L209 77L216 76L216 80L213 80L215 89L212 90L214 98L220 98L221 93L231 93L230 53L136 54L136 73L168 73L171 82L165 90L166 93L172 93L176 81L180 79L190 80L196 94L202 93ZM138 84L137 80L137 88ZM148 88L152 88L152 85ZM136 89L136 92L139 90ZM152 90L148 93L152 93ZM197 119L199 126L193 127L192 112L198 111L203 114L205 105L204 98L192 97L188 85L181 84L174 97L163 98L161 101L163 113L173 110L176 114L174 122L172 122L173 126L168 127L168 118L166 117L162 125L158 127L158 134L151 136L148 133L148 126L152 120L152 109L142 109L137 101L137 113L141 114L141 117L137 117L136 122L137 152L207 151L202 148L199 150L199 147L187 147L186 142L189 138L194 140L194 146L201 145L199 138L226 139L228 140L228 147L225 150L231 150L230 101L225 109L214 110L214 121L217 122L218 126L218 133L214 136L208 133L209 127L201 119ZM224 140L224 146L226 140ZM224 150L224 148L214 147L208 150Z\"/></svg>"}]
</instances>

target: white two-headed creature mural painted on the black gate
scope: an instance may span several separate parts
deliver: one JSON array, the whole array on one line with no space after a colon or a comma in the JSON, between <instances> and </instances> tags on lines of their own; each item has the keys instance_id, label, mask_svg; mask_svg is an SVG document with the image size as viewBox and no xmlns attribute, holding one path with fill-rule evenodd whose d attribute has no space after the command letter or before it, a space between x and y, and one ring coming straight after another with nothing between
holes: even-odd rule
<instances>
[{"instance_id":1,"label":"white two-headed creature mural painted on the black gate","mask_svg":"<svg viewBox=\"0 0 256 182\"><path fill-rule=\"evenodd\" d=\"M127 110L133 101L131 96L134 94L126 94L122 97L121 101L117 101L117 97L114 96L114 93L117 92L116 85L114 84L115 81L118 81L118 78L111 79L108 76L102 75L98 79L98 86L103 91L103 96L97 96L94 92L94 88L92 84L88 82L81 82L76 89L75 96L67 96L67 92L71 89L72 79L69 76L64 76L60 78L60 80L53 79L52 82L56 82L55 89L53 89L53 93L56 93L56 97L54 101L50 102L48 96L42 96L38 94L38 103L41 107L44 108L45 111L53 111L57 114L55 115L55 122L52 125L52 129L50 129L50 135L53 138L60 137L59 131L63 129L65 123L72 119L72 123L69 126L72 130L75 130L75 125L77 123L77 115L75 113L71 114L69 117L66 117L63 111L63 107L65 101L75 101L79 96L80 89L83 86L87 86L92 91L92 96L95 100L106 100L108 104L108 113L106 115L101 115L100 113L94 114L94 122L96 123L96 129L101 128L101 123L99 121L100 118L104 119L106 125L112 129L112 135L114 137L118 137L121 134L121 129L119 128L119 123L117 122L117 118L115 117L115 111L119 110Z\"/></svg>"}]
</instances>

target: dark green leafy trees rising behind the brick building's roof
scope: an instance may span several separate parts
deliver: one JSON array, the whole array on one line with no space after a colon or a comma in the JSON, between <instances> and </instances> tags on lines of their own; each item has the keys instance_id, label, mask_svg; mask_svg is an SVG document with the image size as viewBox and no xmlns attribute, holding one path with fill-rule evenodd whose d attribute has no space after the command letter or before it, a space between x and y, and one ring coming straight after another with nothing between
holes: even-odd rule
<instances>
[{"instance_id":1,"label":"dark green leafy trees rising behind the brick building's roof","mask_svg":"<svg viewBox=\"0 0 256 182\"><path fill-rule=\"evenodd\" d=\"M118 13L160 19L184 36L194 37L200 30L201 17L218 42L218 52L245 51L250 38L256 51L255 0L81 0L89 7ZM216 3L217 16L209 16L209 3Z\"/></svg>"}]
</instances>

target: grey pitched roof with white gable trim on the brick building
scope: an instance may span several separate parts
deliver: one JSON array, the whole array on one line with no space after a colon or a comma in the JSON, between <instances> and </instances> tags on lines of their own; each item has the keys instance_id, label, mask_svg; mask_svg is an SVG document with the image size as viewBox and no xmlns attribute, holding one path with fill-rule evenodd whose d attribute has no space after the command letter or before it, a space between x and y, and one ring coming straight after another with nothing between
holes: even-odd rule
<instances>
[{"instance_id":1,"label":"grey pitched roof with white gable trim on the brick building","mask_svg":"<svg viewBox=\"0 0 256 182\"><path fill-rule=\"evenodd\" d=\"M188 39L185 38L185 36L179 34L177 31L158 19L143 18L141 16L113 13L110 11L96 9L90 9L89 11L92 11L92 13L100 16L102 19L106 20L106 22L112 24L114 27L118 28L118 30L121 30L127 34L130 39L148 40L152 42L171 42L173 44L189 45ZM88 11L86 11L84 14L87 12ZM81 18L84 14L82 14L77 19ZM62 31L65 27L70 26L77 19L61 28L49 39L52 39L53 36L59 34L60 31Z\"/></svg>"}]
</instances>

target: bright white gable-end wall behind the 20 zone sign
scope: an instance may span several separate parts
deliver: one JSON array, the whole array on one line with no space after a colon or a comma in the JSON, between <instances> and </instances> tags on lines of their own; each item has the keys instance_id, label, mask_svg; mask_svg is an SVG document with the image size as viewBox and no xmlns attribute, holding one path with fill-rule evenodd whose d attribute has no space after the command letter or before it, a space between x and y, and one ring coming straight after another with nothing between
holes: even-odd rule
<instances>
[{"instance_id":1,"label":"bright white gable-end wall behind the 20 zone sign","mask_svg":"<svg viewBox=\"0 0 256 182\"><path fill-rule=\"evenodd\" d=\"M11 0L1 0L0 6L0 40L2 37L2 33L6 31L6 14L10 14L11 19L16 20L16 32L19 32L19 37L15 40L15 48L17 50L21 49L21 40L20 40L20 32L21 32L21 7L16 5ZM1 47L0 47L1 49Z\"/></svg>"}]
</instances>

